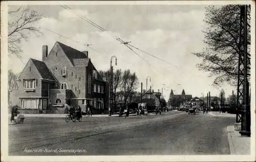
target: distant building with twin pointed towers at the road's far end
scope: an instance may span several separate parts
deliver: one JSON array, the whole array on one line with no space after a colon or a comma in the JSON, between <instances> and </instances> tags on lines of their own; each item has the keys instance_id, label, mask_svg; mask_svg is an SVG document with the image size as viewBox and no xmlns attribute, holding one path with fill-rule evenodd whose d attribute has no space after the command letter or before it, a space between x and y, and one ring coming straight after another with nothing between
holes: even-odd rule
<instances>
[{"instance_id":1,"label":"distant building with twin pointed towers at the road's far end","mask_svg":"<svg viewBox=\"0 0 256 162\"><path fill-rule=\"evenodd\" d=\"M170 91L168 105L172 107L181 106L186 103L186 101L190 101L192 99L192 95L186 95L185 91L182 90L181 95L174 94L173 90Z\"/></svg>"}]
</instances>

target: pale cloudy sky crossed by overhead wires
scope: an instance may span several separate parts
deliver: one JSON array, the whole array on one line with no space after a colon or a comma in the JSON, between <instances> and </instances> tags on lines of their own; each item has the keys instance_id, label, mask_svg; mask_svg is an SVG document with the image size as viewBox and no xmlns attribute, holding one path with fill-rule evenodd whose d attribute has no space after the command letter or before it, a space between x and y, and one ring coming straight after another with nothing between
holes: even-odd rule
<instances>
[{"instance_id":1,"label":"pale cloudy sky crossed by overhead wires","mask_svg":"<svg viewBox=\"0 0 256 162\"><path fill-rule=\"evenodd\" d=\"M205 28L203 22L205 7L196 5L79 5L70 6L75 12L82 14L104 29L114 33L124 41L131 41L131 45L157 56L172 65L146 55L138 54L150 63L136 56L129 48L120 44L108 32L101 32L74 13L61 6L30 6L44 16L39 22L44 36L30 35L27 42L23 42L24 52L21 54L25 63L29 58L41 60L41 46L48 45L49 51L56 41L62 42L80 51L89 50L89 57L97 70L110 68L111 56L117 57L115 69L130 69L136 72L139 82L145 88L146 76L148 88L154 91L164 87L165 99L168 99L170 89L175 94L181 94L182 89L193 97L219 95L220 89L212 87L214 78L208 73L199 71L196 64L200 59L191 55L204 48ZM10 10L17 6L9 6ZM76 41L92 44L86 46L53 34L52 30ZM15 56L9 57L9 69L18 73L25 64ZM163 84L165 86L163 86ZM236 87L223 85L226 95L231 94ZM138 86L140 91L140 84Z\"/></svg>"}]
</instances>

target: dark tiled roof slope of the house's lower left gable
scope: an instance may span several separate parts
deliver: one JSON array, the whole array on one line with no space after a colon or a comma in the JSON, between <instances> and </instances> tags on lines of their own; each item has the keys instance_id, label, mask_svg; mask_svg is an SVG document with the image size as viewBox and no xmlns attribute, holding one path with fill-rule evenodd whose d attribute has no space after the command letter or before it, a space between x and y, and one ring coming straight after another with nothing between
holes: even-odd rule
<instances>
[{"instance_id":1,"label":"dark tiled roof slope of the house's lower left gable","mask_svg":"<svg viewBox=\"0 0 256 162\"><path fill-rule=\"evenodd\" d=\"M38 61L35 59L31 59L31 61L34 63L35 67L37 68L38 72L44 79L50 79L50 80L55 80L51 71L48 69L46 64L42 61Z\"/></svg>"}]
</instances>

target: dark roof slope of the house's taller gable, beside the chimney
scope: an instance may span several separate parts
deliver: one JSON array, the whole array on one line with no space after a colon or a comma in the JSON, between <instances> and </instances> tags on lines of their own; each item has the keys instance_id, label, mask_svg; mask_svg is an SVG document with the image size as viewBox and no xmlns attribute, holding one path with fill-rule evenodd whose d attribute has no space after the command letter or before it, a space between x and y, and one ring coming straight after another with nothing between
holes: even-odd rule
<instances>
[{"instance_id":1,"label":"dark roof slope of the house's taller gable, beside the chimney","mask_svg":"<svg viewBox=\"0 0 256 162\"><path fill-rule=\"evenodd\" d=\"M83 53L77 49L74 49L70 46L67 46L63 43L57 42L59 44L59 46L61 47L61 49L63 50L63 52L66 54L66 56L68 57L68 59L70 60L70 62L74 65L74 59L86 59L88 58L86 53Z\"/></svg>"}]
</instances>

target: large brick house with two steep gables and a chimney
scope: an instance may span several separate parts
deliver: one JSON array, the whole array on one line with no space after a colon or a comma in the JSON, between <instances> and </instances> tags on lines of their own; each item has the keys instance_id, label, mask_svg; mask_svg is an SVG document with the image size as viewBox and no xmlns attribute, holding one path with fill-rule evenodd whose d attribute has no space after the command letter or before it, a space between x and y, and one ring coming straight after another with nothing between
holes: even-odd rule
<instances>
[{"instance_id":1,"label":"large brick house with two steep gables and a chimney","mask_svg":"<svg viewBox=\"0 0 256 162\"><path fill-rule=\"evenodd\" d=\"M108 100L106 83L88 51L60 42L49 53L48 46L42 46L42 61L30 59L17 82L19 89L10 92L11 103L24 113L65 113L65 104L84 110L87 101L94 113L101 113Z\"/></svg>"}]
</instances>

